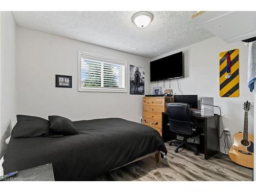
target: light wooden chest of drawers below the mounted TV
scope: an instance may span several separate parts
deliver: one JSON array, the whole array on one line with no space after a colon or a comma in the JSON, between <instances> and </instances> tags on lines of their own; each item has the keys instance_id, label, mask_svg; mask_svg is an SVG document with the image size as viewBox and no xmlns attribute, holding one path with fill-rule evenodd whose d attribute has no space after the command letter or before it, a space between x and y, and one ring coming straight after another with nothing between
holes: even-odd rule
<instances>
[{"instance_id":1,"label":"light wooden chest of drawers below the mounted TV","mask_svg":"<svg viewBox=\"0 0 256 192\"><path fill-rule=\"evenodd\" d=\"M143 97L143 124L151 126L162 136L162 112L173 97Z\"/></svg>"}]
</instances>

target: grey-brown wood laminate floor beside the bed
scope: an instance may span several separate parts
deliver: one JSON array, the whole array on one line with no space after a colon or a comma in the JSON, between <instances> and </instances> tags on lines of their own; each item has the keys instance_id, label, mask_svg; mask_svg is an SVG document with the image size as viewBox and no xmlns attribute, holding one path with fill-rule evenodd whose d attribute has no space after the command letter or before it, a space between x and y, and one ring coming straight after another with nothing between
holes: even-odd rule
<instances>
[{"instance_id":1,"label":"grey-brown wood laminate floor beside the bed","mask_svg":"<svg viewBox=\"0 0 256 192\"><path fill-rule=\"evenodd\" d=\"M96 181L250 181L252 169L233 163L226 155L208 160L192 151L175 153L165 143L166 159L156 163L155 156L134 162L95 178Z\"/></svg>"}]
</instances>

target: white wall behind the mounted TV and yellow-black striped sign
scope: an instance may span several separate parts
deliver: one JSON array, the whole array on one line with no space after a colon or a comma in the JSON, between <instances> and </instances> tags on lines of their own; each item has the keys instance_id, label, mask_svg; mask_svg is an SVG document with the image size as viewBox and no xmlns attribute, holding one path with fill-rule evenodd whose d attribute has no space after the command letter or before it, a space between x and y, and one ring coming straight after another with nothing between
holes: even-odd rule
<instances>
[{"instance_id":1,"label":"white wall behind the mounted TV and yellow-black striped sign","mask_svg":"<svg viewBox=\"0 0 256 192\"><path fill-rule=\"evenodd\" d=\"M240 97L222 98L219 96L219 53L231 49L240 50ZM246 100L253 102L253 93L250 93L247 87L247 47L243 42L226 44L218 37L212 37L152 60L179 51L184 52L185 68L185 78L179 79L181 91L184 94L197 94L199 98L204 96L214 97L215 105L219 105L222 110L221 132L224 127L230 129L231 136L234 132L243 131L244 110L242 109L242 104ZM152 89L156 86L157 82L151 83ZM163 81L159 81L159 86L163 87ZM174 93L180 94L176 80L171 80L170 87L174 90ZM169 81L165 81L165 89L167 88L169 88ZM219 113L218 109L216 109L215 113ZM253 134L253 110L249 111L249 133ZM222 147L224 146L223 144L222 138Z\"/></svg>"}]
</instances>

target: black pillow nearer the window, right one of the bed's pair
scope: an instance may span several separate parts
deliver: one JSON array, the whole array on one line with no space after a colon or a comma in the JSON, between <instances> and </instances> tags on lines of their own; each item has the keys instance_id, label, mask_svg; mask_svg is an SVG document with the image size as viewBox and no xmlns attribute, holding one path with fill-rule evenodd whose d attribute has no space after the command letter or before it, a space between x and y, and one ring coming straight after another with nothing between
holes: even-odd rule
<instances>
[{"instance_id":1,"label":"black pillow nearer the window, right one of the bed's pair","mask_svg":"<svg viewBox=\"0 0 256 192\"><path fill-rule=\"evenodd\" d=\"M77 135L78 131L73 125L73 122L66 118L57 115L48 116L50 129L60 135Z\"/></svg>"}]
</instances>

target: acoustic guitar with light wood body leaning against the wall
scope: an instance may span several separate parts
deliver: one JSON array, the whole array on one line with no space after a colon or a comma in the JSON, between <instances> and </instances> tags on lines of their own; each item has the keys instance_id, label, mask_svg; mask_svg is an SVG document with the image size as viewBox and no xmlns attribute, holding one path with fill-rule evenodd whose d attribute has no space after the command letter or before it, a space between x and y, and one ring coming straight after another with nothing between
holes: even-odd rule
<instances>
[{"instance_id":1,"label":"acoustic guitar with light wood body leaning against the wall","mask_svg":"<svg viewBox=\"0 0 256 192\"><path fill-rule=\"evenodd\" d=\"M253 168L253 135L248 134L248 111L250 102L246 101L244 107L244 132L235 133L234 144L230 147L230 159L242 166Z\"/></svg>"}]
</instances>

